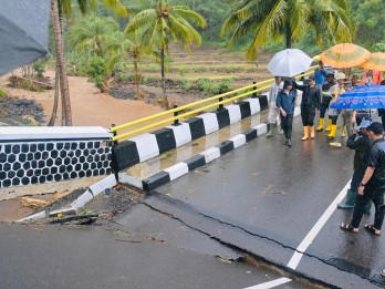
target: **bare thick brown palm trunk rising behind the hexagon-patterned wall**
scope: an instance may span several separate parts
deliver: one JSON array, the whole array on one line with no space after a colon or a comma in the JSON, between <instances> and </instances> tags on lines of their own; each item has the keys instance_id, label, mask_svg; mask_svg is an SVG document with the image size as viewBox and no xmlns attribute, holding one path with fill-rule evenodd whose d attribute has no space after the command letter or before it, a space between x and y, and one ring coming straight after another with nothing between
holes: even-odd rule
<instances>
[{"instance_id":1,"label":"bare thick brown palm trunk rising behind the hexagon-patterned wall","mask_svg":"<svg viewBox=\"0 0 385 289\"><path fill-rule=\"evenodd\" d=\"M61 24L59 18L59 9L58 9L58 0L51 0L51 18L53 25L53 34L55 39L55 48L56 48L56 61L59 65L59 74L60 74L60 85L62 91L62 103L64 110L64 118L65 125L72 125L72 113L71 113L71 102L70 102L70 89L69 89L69 79L66 75L66 65L64 58L64 45L61 33Z\"/></svg>"}]
</instances>

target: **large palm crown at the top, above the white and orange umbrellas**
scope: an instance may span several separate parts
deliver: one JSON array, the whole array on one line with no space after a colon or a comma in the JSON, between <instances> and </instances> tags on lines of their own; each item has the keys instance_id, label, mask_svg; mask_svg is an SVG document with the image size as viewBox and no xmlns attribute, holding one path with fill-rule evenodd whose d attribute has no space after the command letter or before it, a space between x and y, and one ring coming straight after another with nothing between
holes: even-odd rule
<instances>
[{"instance_id":1,"label":"large palm crown at the top, above the white and orange umbrellas","mask_svg":"<svg viewBox=\"0 0 385 289\"><path fill-rule=\"evenodd\" d=\"M284 37L287 48L308 29L314 29L316 42L322 38L332 42L351 42L356 23L347 0L237 0L225 21L221 34L232 33L229 45L243 35L253 34L247 48L247 59L257 58L257 48L269 39Z\"/></svg>"}]
</instances>

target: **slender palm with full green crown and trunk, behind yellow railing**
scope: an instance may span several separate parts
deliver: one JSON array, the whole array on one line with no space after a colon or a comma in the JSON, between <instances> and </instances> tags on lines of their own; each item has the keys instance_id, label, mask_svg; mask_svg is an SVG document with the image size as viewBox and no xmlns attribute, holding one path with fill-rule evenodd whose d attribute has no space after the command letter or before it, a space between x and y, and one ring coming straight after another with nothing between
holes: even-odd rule
<instances>
[{"instance_id":1,"label":"slender palm with full green crown and trunk, behind yellow railing","mask_svg":"<svg viewBox=\"0 0 385 289\"><path fill-rule=\"evenodd\" d=\"M168 44L173 39L180 42L190 51L190 44L201 44L199 32L190 24L197 23L206 27L206 20L186 6L170 6L167 0L150 1L150 8L138 12L125 29L128 35L139 33L144 47L157 47L160 52L162 86L165 106L168 105L166 96L165 53L169 53Z\"/></svg>"}]
</instances>

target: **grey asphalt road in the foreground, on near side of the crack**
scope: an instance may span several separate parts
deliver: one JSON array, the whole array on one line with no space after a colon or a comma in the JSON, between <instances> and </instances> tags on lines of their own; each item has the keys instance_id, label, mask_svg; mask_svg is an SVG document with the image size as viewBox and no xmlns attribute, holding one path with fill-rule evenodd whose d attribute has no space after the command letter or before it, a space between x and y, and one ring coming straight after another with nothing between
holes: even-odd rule
<instances>
[{"instance_id":1,"label":"grey asphalt road in the foreground, on near side of the crack","mask_svg":"<svg viewBox=\"0 0 385 289\"><path fill-rule=\"evenodd\" d=\"M7 289L215 289L287 281L280 273L244 261L187 250L160 236L127 230L117 224L96 227L0 224L0 288ZM232 251L219 244L211 246ZM240 255L231 252L231 256ZM306 287L290 282L285 288Z\"/></svg>"}]
</instances>

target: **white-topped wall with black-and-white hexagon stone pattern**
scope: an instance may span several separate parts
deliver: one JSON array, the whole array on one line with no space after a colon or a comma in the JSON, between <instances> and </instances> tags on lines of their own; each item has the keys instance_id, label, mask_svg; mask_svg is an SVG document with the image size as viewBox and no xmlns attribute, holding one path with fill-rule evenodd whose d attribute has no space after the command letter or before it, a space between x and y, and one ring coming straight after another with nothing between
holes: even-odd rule
<instances>
[{"instance_id":1,"label":"white-topped wall with black-and-white hexagon stone pattern","mask_svg":"<svg viewBox=\"0 0 385 289\"><path fill-rule=\"evenodd\" d=\"M103 127L0 127L0 188L111 174Z\"/></svg>"}]
</instances>

